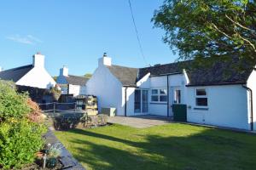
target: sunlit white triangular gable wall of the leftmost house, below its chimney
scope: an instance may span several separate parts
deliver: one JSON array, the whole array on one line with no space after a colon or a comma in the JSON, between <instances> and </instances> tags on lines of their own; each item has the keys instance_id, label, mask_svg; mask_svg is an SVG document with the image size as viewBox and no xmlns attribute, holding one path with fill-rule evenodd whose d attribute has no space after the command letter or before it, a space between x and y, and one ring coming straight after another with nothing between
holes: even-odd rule
<instances>
[{"instance_id":1,"label":"sunlit white triangular gable wall of the leftmost house, below its chimney","mask_svg":"<svg viewBox=\"0 0 256 170\"><path fill-rule=\"evenodd\" d=\"M55 80L49 75L44 67L33 67L24 77L21 77L17 85L30 86L34 88L55 87Z\"/></svg>"}]
</instances>

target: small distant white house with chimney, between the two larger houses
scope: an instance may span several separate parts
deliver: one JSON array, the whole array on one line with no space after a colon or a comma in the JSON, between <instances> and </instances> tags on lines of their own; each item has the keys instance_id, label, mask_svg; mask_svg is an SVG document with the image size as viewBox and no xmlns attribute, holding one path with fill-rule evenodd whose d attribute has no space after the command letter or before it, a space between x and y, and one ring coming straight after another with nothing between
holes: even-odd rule
<instances>
[{"instance_id":1,"label":"small distant white house with chimney, between the two larger houses","mask_svg":"<svg viewBox=\"0 0 256 170\"><path fill-rule=\"evenodd\" d=\"M60 69L60 75L57 77L56 82L61 87L61 94L72 94L73 96L78 96L85 94L85 84L88 79L89 78L87 77L68 75L68 68L64 65L63 68Z\"/></svg>"}]
</instances>

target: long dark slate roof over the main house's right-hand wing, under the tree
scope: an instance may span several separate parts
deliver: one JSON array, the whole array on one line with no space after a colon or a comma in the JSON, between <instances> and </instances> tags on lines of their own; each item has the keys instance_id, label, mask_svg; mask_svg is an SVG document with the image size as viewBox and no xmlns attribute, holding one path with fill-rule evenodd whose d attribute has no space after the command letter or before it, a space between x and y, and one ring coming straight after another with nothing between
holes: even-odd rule
<instances>
[{"instance_id":1,"label":"long dark slate roof over the main house's right-hand wing, under the tree","mask_svg":"<svg viewBox=\"0 0 256 170\"><path fill-rule=\"evenodd\" d=\"M151 77L154 77L167 74L181 74L183 69L185 69L190 81L188 86L246 83L253 71L253 67L247 67L247 69L238 71L234 65L236 65L235 61L216 62L210 67L194 67L193 60L188 60L142 68L139 70L139 78L144 77L148 72L150 72Z\"/></svg>"}]
</instances>

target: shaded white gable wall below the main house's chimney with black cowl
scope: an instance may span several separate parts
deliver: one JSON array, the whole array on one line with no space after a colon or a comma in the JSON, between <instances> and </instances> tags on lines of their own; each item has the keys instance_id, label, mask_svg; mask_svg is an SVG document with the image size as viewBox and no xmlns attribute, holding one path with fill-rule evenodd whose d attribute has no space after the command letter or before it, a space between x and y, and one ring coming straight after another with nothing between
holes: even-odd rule
<instances>
[{"instance_id":1,"label":"shaded white gable wall below the main house's chimney with black cowl","mask_svg":"<svg viewBox=\"0 0 256 170\"><path fill-rule=\"evenodd\" d=\"M122 84L104 65L99 65L90 80L86 83L86 94L96 95L98 108L114 107L118 116L124 116L122 106Z\"/></svg>"}]
</instances>

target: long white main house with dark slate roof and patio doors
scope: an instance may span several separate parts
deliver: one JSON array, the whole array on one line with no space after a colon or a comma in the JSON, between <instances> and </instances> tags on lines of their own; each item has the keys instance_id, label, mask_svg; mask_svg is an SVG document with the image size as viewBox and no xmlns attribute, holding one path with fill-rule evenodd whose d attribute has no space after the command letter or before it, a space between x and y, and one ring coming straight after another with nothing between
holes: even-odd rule
<instances>
[{"instance_id":1,"label":"long white main house with dark slate roof and patio doors","mask_svg":"<svg viewBox=\"0 0 256 170\"><path fill-rule=\"evenodd\" d=\"M118 116L173 116L174 105L185 105L188 122L256 130L255 70L236 71L229 63L189 69L192 62L136 69L112 65L104 54L87 94L97 96L99 111L114 107Z\"/></svg>"}]
</instances>

